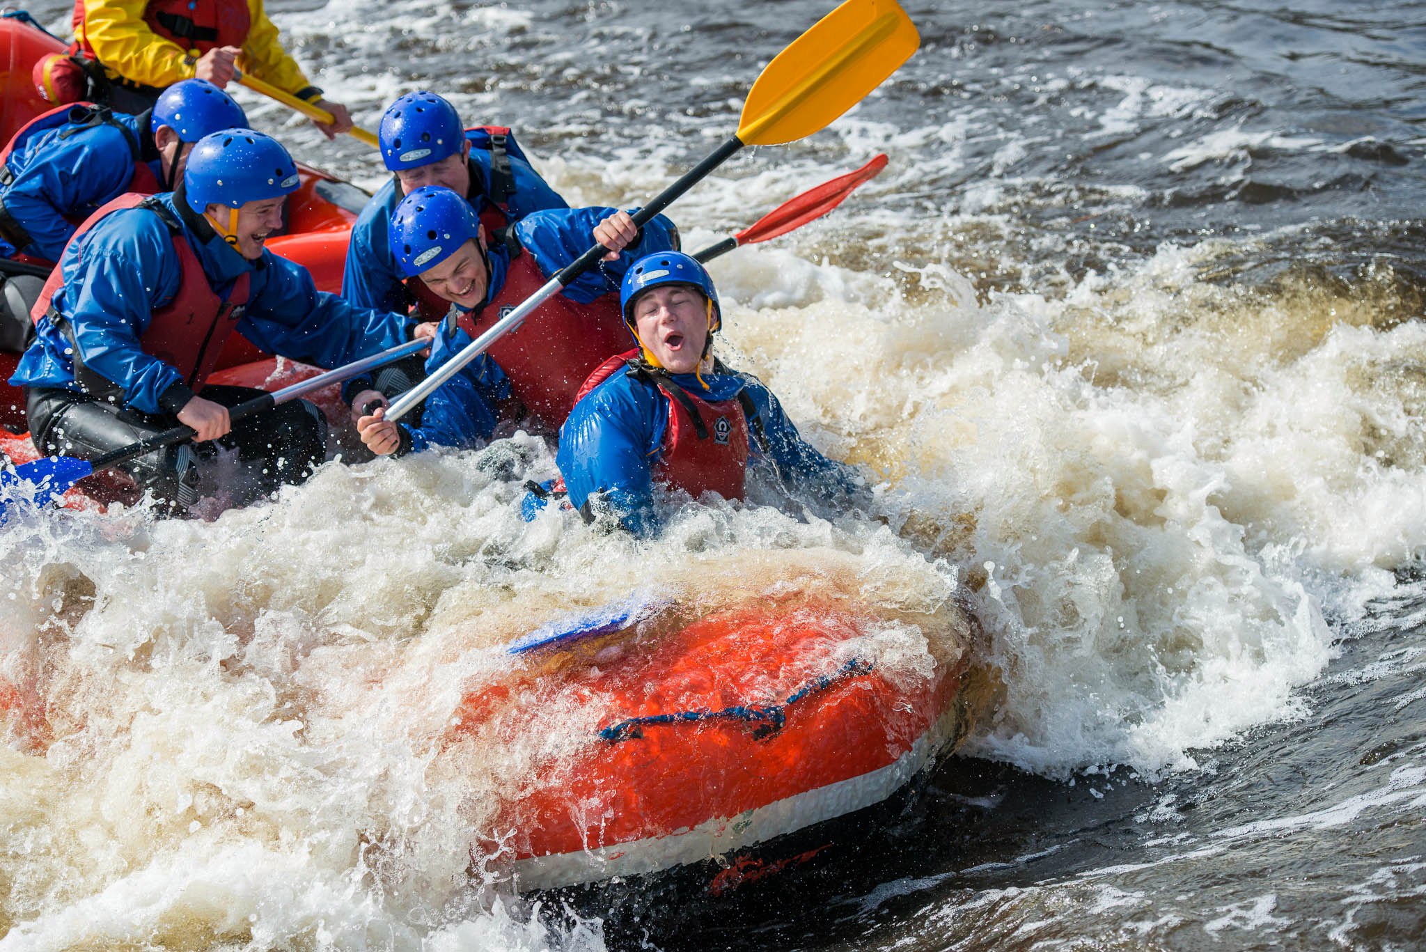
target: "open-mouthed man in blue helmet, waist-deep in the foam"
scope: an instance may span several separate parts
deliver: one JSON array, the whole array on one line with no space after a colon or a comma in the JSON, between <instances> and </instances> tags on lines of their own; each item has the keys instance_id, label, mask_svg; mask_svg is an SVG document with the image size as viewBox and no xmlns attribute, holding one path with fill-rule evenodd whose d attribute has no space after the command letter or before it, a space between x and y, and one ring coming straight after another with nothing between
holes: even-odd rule
<instances>
[{"instance_id":1,"label":"open-mouthed man in blue helmet, waist-deep in the foam","mask_svg":"<svg viewBox=\"0 0 1426 952\"><path fill-rule=\"evenodd\" d=\"M723 317L702 264L679 253L643 257L619 298L637 347L590 374L559 431L559 488L588 521L609 514L649 535L659 525L655 484L742 500L752 462L833 505L866 498L857 474L813 450L761 381L713 357Z\"/></svg>"}]
</instances>

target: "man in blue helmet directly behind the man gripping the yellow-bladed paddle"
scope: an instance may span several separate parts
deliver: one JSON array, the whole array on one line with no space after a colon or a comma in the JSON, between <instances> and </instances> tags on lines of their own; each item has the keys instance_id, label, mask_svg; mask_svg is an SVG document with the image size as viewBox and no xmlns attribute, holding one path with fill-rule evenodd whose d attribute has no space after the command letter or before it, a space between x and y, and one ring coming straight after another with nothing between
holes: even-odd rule
<instances>
[{"instance_id":1,"label":"man in blue helmet directly behind the man gripping the yellow-bladed paddle","mask_svg":"<svg viewBox=\"0 0 1426 952\"><path fill-rule=\"evenodd\" d=\"M419 284L405 285L388 241L396 204L416 188L443 186L462 196L492 236L532 211L569 207L529 164L511 130L465 128L455 107L435 93L406 93L392 103L376 137L392 180L366 203L347 248L342 295L358 307L404 311L425 303L426 317L445 313Z\"/></svg>"}]
</instances>

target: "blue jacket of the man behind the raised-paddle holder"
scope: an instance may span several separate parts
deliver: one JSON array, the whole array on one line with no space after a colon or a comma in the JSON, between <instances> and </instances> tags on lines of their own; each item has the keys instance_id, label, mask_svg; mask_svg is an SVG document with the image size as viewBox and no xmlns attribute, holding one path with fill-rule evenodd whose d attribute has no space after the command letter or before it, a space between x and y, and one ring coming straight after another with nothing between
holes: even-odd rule
<instances>
[{"instance_id":1,"label":"blue jacket of the man behind the raised-paddle holder","mask_svg":"<svg viewBox=\"0 0 1426 952\"><path fill-rule=\"evenodd\" d=\"M498 160L493 158L488 130L469 128L465 137L471 143L471 191L466 198L478 216L492 206L505 213L503 217L511 221L542 208L569 208L569 203L540 178L518 146L511 148L503 160ZM509 144L513 146L513 138ZM502 167L508 163L508 173L498 176L492 171L492 163ZM388 238L391 216L404 197L398 186L396 177L392 176L372 196L352 226L347 270L342 274L342 297L356 307L404 311L411 303ZM505 194L506 191L509 194ZM493 236L486 234L486 238L491 240Z\"/></svg>"}]
</instances>

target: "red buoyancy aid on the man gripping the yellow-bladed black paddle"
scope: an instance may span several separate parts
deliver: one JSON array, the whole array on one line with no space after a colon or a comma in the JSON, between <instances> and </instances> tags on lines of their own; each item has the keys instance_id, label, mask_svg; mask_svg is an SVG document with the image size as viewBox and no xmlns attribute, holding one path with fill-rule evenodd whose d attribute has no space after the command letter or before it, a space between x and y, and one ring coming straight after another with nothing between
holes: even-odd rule
<instances>
[{"instance_id":1,"label":"red buoyancy aid on the man gripping the yellow-bladed black paddle","mask_svg":"<svg viewBox=\"0 0 1426 952\"><path fill-rule=\"evenodd\" d=\"M482 221L483 218L482 213ZM505 285L476 320L469 314L462 315L461 328L472 338L479 337L548 281L535 264L535 255L512 253ZM419 280L411 284L425 290L421 300L422 315L435 320L446 313L449 301L438 298ZM434 310L436 303L439 311ZM619 317L617 294L605 294L589 304L576 304L563 294L556 294L498 340L489 354L509 377L511 390L525 408L549 428L559 430L569 408L575 405L580 383L627 344L629 333Z\"/></svg>"}]
</instances>

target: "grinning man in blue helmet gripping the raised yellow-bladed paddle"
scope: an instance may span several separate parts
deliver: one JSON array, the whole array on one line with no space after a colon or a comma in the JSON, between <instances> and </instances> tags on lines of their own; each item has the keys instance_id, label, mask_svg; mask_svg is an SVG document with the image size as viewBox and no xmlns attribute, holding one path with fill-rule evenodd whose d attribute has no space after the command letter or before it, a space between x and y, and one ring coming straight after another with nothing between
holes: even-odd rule
<instances>
[{"instance_id":1,"label":"grinning man in blue helmet gripping the raised yellow-bladed paddle","mask_svg":"<svg viewBox=\"0 0 1426 952\"><path fill-rule=\"evenodd\" d=\"M515 397L553 432L569 412L585 375L620 347L613 290L633 263L626 248L649 250L673 241L662 216L642 230L626 211L566 208L536 211L518 221L508 241L488 247L468 201L449 188L422 187L402 198L391 223L392 250L402 273L418 277L451 305L425 371L434 373L503 313L572 263L589 244L610 248L599 270L572 281L536 308L488 354L468 364L426 400L419 421L394 424L371 401L376 391L352 398L361 414L356 430L372 452L402 455L431 444L469 448L488 440L496 418ZM356 385L354 385L355 388Z\"/></svg>"}]
</instances>

